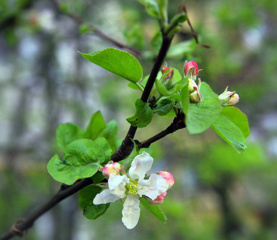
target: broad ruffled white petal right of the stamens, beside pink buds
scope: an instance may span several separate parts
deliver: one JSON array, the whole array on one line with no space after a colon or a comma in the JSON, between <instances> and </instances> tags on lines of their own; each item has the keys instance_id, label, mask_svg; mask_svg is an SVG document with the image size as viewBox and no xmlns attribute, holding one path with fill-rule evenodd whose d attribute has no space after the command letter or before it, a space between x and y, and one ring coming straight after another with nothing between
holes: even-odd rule
<instances>
[{"instance_id":1,"label":"broad ruffled white petal right of the stamens, beside pink buds","mask_svg":"<svg viewBox=\"0 0 277 240\"><path fill-rule=\"evenodd\" d=\"M137 194L145 195L155 200L157 196L167 191L168 184L161 176L152 173L149 179L143 179L138 185L142 190L137 190Z\"/></svg>"}]
</instances>

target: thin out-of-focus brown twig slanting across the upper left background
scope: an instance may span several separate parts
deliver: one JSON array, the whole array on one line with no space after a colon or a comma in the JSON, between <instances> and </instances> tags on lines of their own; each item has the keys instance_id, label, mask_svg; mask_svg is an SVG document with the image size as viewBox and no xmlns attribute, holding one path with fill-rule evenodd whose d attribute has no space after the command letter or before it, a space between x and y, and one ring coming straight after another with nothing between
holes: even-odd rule
<instances>
[{"instance_id":1,"label":"thin out-of-focus brown twig slanting across the upper left background","mask_svg":"<svg viewBox=\"0 0 277 240\"><path fill-rule=\"evenodd\" d=\"M111 42L112 44L114 44L114 45L116 45L116 46L118 46L120 48L126 48L126 49L131 50L132 52L134 52L137 55L141 55L141 53L137 49L135 49L135 48L133 48L131 46L127 46L127 45L125 45L125 44L123 44L123 43L121 43L121 42L111 38L110 36L107 36L106 34L101 32L99 29L97 29L96 27L92 26L91 24L86 23L85 20L81 19L80 17L76 16L75 14L73 14L73 13L67 13L65 11L62 11L62 9L60 8L60 5L59 5L57 0L50 0L50 1L53 3L54 7L56 8L56 10L59 13L64 14L64 15L70 17L71 19L73 19L79 25L85 23L88 26L89 30L94 32L98 37L104 38L107 41Z\"/></svg>"}]
</instances>

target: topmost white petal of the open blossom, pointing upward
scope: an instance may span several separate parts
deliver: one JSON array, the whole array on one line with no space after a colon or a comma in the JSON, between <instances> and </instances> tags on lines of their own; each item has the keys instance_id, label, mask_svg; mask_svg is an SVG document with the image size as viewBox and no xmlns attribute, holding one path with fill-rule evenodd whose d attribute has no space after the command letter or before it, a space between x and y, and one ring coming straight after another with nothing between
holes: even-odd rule
<instances>
[{"instance_id":1,"label":"topmost white petal of the open blossom, pointing upward","mask_svg":"<svg viewBox=\"0 0 277 240\"><path fill-rule=\"evenodd\" d=\"M138 179L138 183L144 179L145 173L152 167L154 159L147 153L143 152L137 155L131 163L129 176L131 179Z\"/></svg>"}]
</instances>

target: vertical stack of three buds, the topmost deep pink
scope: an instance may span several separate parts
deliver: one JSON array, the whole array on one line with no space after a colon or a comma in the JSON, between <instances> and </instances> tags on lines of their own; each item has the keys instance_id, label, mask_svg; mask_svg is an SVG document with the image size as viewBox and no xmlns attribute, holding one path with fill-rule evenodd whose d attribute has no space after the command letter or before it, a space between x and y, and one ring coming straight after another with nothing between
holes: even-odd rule
<instances>
[{"instance_id":1,"label":"vertical stack of three buds, the topmost deep pink","mask_svg":"<svg viewBox=\"0 0 277 240\"><path fill-rule=\"evenodd\" d=\"M195 61L185 61L184 64L184 76L188 77L188 91L189 98L192 103L200 103L202 96L199 92L201 86L201 79L198 78L198 85L196 84L196 76L203 69L198 70L197 63Z\"/></svg>"}]
</instances>

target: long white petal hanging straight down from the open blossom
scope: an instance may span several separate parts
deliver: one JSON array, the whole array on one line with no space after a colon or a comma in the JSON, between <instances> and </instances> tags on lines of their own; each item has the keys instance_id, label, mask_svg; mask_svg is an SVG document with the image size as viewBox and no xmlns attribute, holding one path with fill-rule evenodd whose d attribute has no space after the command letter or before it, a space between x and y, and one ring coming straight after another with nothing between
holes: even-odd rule
<instances>
[{"instance_id":1,"label":"long white petal hanging straight down from the open blossom","mask_svg":"<svg viewBox=\"0 0 277 240\"><path fill-rule=\"evenodd\" d=\"M123 204L122 223L128 228L132 229L137 225L140 218L140 200L138 195L127 195Z\"/></svg>"}]
</instances>

